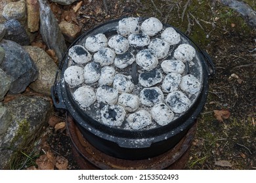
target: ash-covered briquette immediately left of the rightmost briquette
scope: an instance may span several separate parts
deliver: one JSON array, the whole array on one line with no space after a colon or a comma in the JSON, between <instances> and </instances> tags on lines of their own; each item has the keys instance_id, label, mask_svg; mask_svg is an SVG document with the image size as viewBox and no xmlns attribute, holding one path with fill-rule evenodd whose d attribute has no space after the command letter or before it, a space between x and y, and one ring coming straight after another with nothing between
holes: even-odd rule
<instances>
[{"instance_id":1,"label":"ash-covered briquette immediately left of the rightmost briquette","mask_svg":"<svg viewBox=\"0 0 256 183\"><path fill-rule=\"evenodd\" d=\"M178 73L169 73L163 79L161 89L165 93L174 92L179 90L179 84L181 83L181 75Z\"/></svg>"}]
</instances>

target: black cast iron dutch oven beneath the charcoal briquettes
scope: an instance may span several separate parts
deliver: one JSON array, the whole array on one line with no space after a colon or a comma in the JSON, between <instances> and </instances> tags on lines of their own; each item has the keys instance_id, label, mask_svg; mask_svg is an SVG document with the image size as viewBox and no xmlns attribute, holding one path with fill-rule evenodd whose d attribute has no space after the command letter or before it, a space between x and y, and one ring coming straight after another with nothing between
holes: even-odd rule
<instances>
[{"instance_id":1,"label":"black cast iron dutch oven beneath the charcoal briquettes","mask_svg":"<svg viewBox=\"0 0 256 183\"><path fill-rule=\"evenodd\" d=\"M70 45L70 48L77 44L83 44L87 37L98 33L103 33L107 38L116 35L119 20L106 22L85 32ZM146 18L139 18L139 23L141 24L144 20ZM163 28L166 27L172 26L163 24ZM188 110L167 125L129 130L98 122L93 118L93 113L87 114L74 101L72 90L64 81L64 71L70 65L68 51L60 61L56 72L56 80L51 90L54 106L66 110L74 118L83 137L101 152L121 159L148 159L159 156L173 148L184 137L188 129L196 123L196 118L202 111L207 99L208 80L214 74L214 66L206 52L203 52L179 29L173 28L181 35L182 42L190 44L196 49L195 65L187 68L188 71L186 72L193 73L200 78L201 88Z\"/></svg>"}]
</instances>

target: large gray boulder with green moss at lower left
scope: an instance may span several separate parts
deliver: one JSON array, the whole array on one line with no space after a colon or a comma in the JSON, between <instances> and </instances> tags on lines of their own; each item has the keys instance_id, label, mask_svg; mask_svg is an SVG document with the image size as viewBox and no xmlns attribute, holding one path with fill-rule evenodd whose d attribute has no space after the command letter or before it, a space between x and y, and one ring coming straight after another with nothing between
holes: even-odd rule
<instances>
[{"instance_id":1,"label":"large gray boulder with green moss at lower left","mask_svg":"<svg viewBox=\"0 0 256 183\"><path fill-rule=\"evenodd\" d=\"M4 148L0 151L0 169L10 168L11 157L15 154L12 150L22 150L38 139L53 112L50 101L41 97L20 96L5 103L5 107L12 120L0 141ZM10 147L12 150L7 149Z\"/></svg>"}]
</instances>

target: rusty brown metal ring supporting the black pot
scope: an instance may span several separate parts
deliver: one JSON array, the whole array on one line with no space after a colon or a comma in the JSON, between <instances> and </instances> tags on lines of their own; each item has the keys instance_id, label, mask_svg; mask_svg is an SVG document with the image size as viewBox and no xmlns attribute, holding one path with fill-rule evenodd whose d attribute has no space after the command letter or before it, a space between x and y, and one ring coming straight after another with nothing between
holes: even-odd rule
<instances>
[{"instance_id":1,"label":"rusty brown metal ring supporting the black pot","mask_svg":"<svg viewBox=\"0 0 256 183\"><path fill-rule=\"evenodd\" d=\"M154 158L142 160L119 159L100 152L90 144L67 114L68 133L72 139L74 158L81 169L184 169L191 143L196 133L196 123L171 150Z\"/></svg>"}]
</instances>

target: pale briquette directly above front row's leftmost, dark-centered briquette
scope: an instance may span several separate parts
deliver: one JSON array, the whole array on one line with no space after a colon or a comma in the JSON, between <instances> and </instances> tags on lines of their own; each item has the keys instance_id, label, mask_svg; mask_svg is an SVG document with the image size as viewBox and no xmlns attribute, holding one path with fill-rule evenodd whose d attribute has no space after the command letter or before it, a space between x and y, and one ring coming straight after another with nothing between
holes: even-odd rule
<instances>
[{"instance_id":1,"label":"pale briquette directly above front row's leftmost, dark-centered briquette","mask_svg":"<svg viewBox=\"0 0 256 183\"><path fill-rule=\"evenodd\" d=\"M99 102L114 105L118 99L118 90L108 85L102 85L96 90L96 99Z\"/></svg>"}]
</instances>

